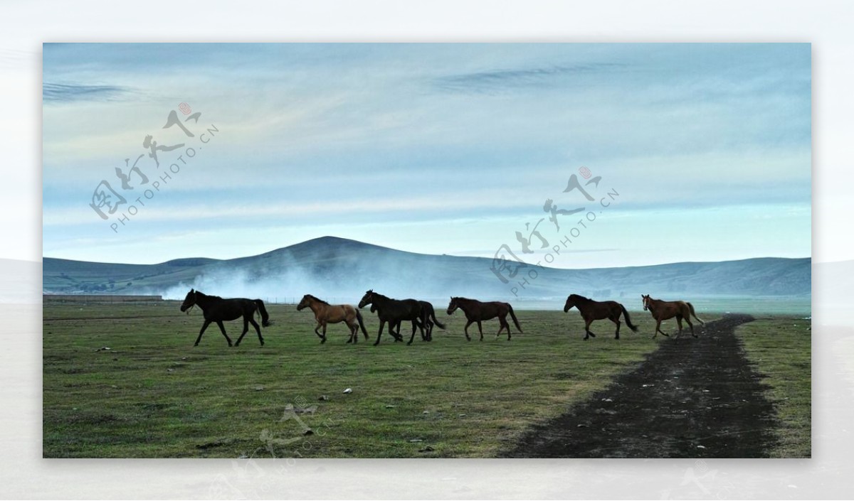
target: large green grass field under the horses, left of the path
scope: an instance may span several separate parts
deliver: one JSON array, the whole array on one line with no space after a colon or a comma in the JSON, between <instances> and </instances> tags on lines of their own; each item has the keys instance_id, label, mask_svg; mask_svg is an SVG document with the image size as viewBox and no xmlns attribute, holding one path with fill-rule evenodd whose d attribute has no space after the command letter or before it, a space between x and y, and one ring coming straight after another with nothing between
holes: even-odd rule
<instances>
[{"instance_id":1,"label":"large green grass field under the horses, left of the path","mask_svg":"<svg viewBox=\"0 0 854 501\"><path fill-rule=\"evenodd\" d=\"M494 457L662 340L635 313L645 334L623 326L617 341L600 321L599 337L583 342L573 310L518 311L525 334L495 339L490 321L483 343L467 343L461 312L440 310L448 331L432 343L386 334L373 347L377 320L365 309L370 343L345 344L345 328L331 325L321 345L310 312L269 310L276 323L263 348L251 332L228 348L216 325L194 348L201 314L181 314L177 302L45 304L44 457ZM240 326L226 324L232 339ZM313 435L283 420L289 404L317 406L297 414Z\"/></svg>"}]
</instances>

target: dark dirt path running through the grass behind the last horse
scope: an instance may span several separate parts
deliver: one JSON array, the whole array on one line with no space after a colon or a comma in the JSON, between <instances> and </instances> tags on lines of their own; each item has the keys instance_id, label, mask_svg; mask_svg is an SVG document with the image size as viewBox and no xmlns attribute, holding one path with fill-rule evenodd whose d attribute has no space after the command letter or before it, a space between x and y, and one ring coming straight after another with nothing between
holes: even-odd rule
<instances>
[{"instance_id":1,"label":"dark dirt path running through the grass behind the last horse","mask_svg":"<svg viewBox=\"0 0 854 501\"><path fill-rule=\"evenodd\" d=\"M727 315L524 435L508 458L763 458L774 410Z\"/></svg>"}]
</instances>

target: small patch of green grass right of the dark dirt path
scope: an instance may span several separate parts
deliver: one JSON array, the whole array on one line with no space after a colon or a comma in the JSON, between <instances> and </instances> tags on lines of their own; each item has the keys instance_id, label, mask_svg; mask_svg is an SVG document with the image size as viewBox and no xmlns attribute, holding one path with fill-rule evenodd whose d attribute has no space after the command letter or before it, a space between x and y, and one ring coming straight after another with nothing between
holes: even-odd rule
<instances>
[{"instance_id":1,"label":"small patch of green grass right of the dark dirt path","mask_svg":"<svg viewBox=\"0 0 854 501\"><path fill-rule=\"evenodd\" d=\"M769 385L780 426L774 458L810 458L810 320L757 318L736 331L747 358Z\"/></svg>"}]
</instances>

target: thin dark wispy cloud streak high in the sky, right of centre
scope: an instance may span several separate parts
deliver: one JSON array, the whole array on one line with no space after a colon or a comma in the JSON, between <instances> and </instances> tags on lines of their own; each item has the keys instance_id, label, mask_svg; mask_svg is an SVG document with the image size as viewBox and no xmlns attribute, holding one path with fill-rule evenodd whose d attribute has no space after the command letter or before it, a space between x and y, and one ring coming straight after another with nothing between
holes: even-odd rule
<instances>
[{"instance_id":1,"label":"thin dark wispy cloud streak high in the sky, right of centre","mask_svg":"<svg viewBox=\"0 0 854 501\"><path fill-rule=\"evenodd\" d=\"M600 72L613 72L625 67L623 63L586 63L571 66L546 66L517 70L463 73L435 78L437 89L447 92L499 94L526 87L541 87L565 83L569 78Z\"/></svg>"}]
</instances>

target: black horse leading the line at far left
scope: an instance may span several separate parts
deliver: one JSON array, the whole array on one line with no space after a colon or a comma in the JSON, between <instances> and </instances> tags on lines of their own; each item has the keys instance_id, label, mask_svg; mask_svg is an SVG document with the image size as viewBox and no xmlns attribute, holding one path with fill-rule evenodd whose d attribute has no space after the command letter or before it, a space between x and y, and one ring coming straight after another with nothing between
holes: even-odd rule
<instances>
[{"instance_id":1,"label":"black horse leading the line at far left","mask_svg":"<svg viewBox=\"0 0 854 501\"><path fill-rule=\"evenodd\" d=\"M245 297L223 299L219 296L208 296L195 289L190 289L181 304L181 311L187 311L196 305L202 308L205 323L202 324L202 330L199 331L199 337L196 338L196 344L193 346L199 345L199 342L202 341L202 334L205 333L205 329L211 322L216 322L216 325L219 325L219 331L222 331L225 341L231 346L231 339L228 334L225 334L225 326L222 325L222 322L223 320L237 320L240 317L243 317L243 333L237 338L237 343L234 343L234 346L239 346L243 336L249 332L249 324L252 324L255 331L258 332L258 341L260 341L261 346L264 346L264 337L261 337L260 327L254 320L255 312L257 311L261 315L261 325L268 327L272 323L270 322L270 315L266 313L266 308L264 308L264 302L260 299L246 299Z\"/></svg>"}]
</instances>

